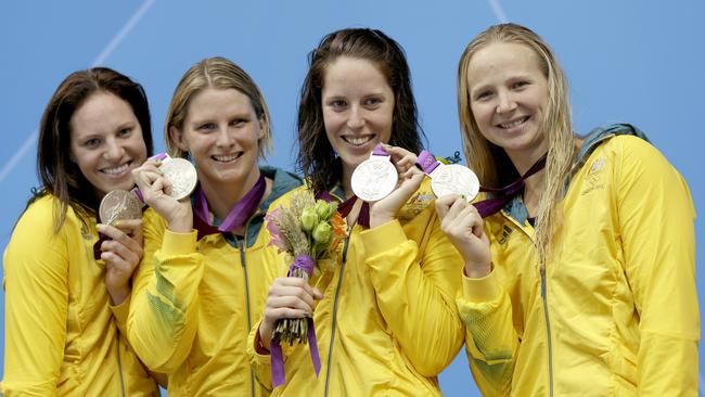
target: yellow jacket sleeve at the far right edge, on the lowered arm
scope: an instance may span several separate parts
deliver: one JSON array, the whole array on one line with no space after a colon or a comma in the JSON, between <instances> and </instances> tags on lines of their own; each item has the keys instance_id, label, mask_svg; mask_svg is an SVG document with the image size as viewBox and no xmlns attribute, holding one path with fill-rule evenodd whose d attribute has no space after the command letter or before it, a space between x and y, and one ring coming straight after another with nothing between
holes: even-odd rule
<instances>
[{"instance_id":1,"label":"yellow jacket sleeve at the far right edge, on the lowered arm","mask_svg":"<svg viewBox=\"0 0 705 397\"><path fill-rule=\"evenodd\" d=\"M682 177L649 143L624 140L616 202L641 341L641 396L697 394L695 212Z\"/></svg>"}]
</instances>

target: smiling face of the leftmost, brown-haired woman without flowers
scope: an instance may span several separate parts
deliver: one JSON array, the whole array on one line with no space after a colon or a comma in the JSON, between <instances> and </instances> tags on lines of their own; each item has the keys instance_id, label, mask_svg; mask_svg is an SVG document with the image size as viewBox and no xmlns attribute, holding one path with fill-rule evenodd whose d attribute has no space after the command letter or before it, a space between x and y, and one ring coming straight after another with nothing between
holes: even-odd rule
<instances>
[{"instance_id":1,"label":"smiling face of the leftmost, brown-haired woman without flowers","mask_svg":"<svg viewBox=\"0 0 705 397\"><path fill-rule=\"evenodd\" d=\"M142 128L130 105L98 91L69 120L70 159L102 198L113 190L132 188L131 170L146 159Z\"/></svg>"}]
</instances>

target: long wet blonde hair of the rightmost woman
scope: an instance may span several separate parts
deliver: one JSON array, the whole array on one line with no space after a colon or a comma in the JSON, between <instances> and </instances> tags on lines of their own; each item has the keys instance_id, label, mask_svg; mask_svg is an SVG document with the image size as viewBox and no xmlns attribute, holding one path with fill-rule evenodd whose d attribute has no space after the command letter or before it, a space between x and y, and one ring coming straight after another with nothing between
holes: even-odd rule
<instances>
[{"instance_id":1,"label":"long wet blonde hair of the rightmost woman","mask_svg":"<svg viewBox=\"0 0 705 397\"><path fill-rule=\"evenodd\" d=\"M551 48L536 33L524 26L490 26L467 44L458 65L458 114L463 132L465 158L484 185L501 187L516 177L516 170L504 150L483 137L470 107L470 62L477 51L492 43L517 43L528 47L536 53L539 67L548 80L549 104L542 129L548 135L549 152L546 163L546 188L539 196L536 221L536 247L539 260L543 264L550 254L552 234L560 223L557 203L563 197L575 155L568 82Z\"/></svg>"}]
</instances>

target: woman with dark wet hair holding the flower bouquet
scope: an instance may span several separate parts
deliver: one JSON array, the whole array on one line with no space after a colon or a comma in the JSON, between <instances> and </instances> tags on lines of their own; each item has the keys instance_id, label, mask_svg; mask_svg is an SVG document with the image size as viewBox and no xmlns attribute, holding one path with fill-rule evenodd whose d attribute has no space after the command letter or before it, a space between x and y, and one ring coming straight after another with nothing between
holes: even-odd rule
<instances>
[{"instance_id":1,"label":"woman with dark wet hair holding the flower bouquet","mask_svg":"<svg viewBox=\"0 0 705 397\"><path fill-rule=\"evenodd\" d=\"M309 182L299 189L351 207L348 236L332 266L319 264L310 281L316 287L297 278L274 281L247 344L257 376L272 383L277 321L312 316L320 375L308 346L284 346L286 381L273 395L440 395L436 375L463 340L454 304L462 261L440 231L430 184L413 166L421 138L399 44L373 29L325 36L310 54L298 136L298 164ZM387 143L401 182L368 213L354 196L351 175ZM292 194L272 206L286 206Z\"/></svg>"}]
</instances>

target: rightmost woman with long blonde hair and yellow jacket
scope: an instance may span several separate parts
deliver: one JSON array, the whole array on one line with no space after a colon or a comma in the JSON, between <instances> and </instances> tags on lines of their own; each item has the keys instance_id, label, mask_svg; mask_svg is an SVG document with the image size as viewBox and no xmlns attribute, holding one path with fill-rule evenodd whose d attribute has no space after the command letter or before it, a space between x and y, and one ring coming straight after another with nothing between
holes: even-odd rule
<instances>
[{"instance_id":1,"label":"rightmost woman with long blonde hair and yellow jacket","mask_svg":"<svg viewBox=\"0 0 705 397\"><path fill-rule=\"evenodd\" d=\"M458 103L470 166L512 184L477 208L437 202L483 394L695 395L695 214L678 171L629 125L574 135L555 55L520 25L470 42Z\"/></svg>"}]
</instances>

